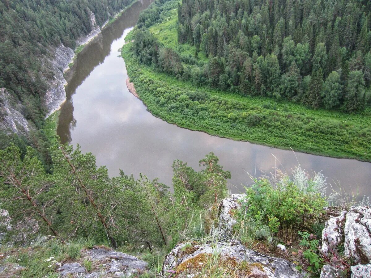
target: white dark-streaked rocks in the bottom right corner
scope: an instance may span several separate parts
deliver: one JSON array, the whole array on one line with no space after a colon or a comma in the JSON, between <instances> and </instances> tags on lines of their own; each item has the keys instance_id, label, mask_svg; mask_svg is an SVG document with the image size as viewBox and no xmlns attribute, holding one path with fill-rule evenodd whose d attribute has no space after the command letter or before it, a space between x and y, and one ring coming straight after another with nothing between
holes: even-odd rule
<instances>
[{"instance_id":1,"label":"white dark-streaked rocks in the bottom right corner","mask_svg":"<svg viewBox=\"0 0 371 278\"><path fill-rule=\"evenodd\" d=\"M322 231L322 252L330 260L334 254L336 256L334 250L339 249L344 249L344 255L357 264L351 267L352 277L371 277L371 208L353 206L326 222ZM336 271L334 268L332 272ZM324 267L321 277L331 277L330 270Z\"/></svg>"}]
</instances>

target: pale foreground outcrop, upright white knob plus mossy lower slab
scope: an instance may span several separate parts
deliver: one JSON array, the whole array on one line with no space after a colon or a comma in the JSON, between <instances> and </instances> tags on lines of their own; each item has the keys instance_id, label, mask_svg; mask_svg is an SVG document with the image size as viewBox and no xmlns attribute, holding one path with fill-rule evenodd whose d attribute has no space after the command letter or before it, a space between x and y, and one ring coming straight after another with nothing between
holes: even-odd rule
<instances>
[{"instance_id":1,"label":"pale foreground outcrop, upright white knob plus mossy lower slab","mask_svg":"<svg viewBox=\"0 0 371 278\"><path fill-rule=\"evenodd\" d=\"M193 268L193 272L187 273L188 277L193 277L195 265L201 269L204 264L202 259L217 254L220 264L225 262L234 266L243 265L245 272L242 275L250 275L248 277L305 277L306 273L299 272L295 264L247 249L241 242L232 238L232 226L236 224L236 220L233 219L234 210L239 209L245 199L245 194L233 194L230 198L224 199L220 203L218 223L211 231L210 239L206 242L204 240L183 242L175 246L165 258L162 276L189 272L188 268ZM189 265L192 267L188 267Z\"/></svg>"}]
</instances>

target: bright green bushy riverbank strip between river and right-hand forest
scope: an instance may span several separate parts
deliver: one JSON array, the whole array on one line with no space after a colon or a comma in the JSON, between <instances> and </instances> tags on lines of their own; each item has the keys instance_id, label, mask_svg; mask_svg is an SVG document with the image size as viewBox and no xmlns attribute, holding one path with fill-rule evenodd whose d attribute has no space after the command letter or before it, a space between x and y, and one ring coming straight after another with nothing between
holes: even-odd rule
<instances>
[{"instance_id":1,"label":"bright green bushy riverbank strip between river and right-hand forest","mask_svg":"<svg viewBox=\"0 0 371 278\"><path fill-rule=\"evenodd\" d=\"M126 44L121 54L131 82L154 116L234 140L371 161L370 109L357 115L313 110L292 102L196 87L139 65L131 45Z\"/></svg>"}]
</instances>

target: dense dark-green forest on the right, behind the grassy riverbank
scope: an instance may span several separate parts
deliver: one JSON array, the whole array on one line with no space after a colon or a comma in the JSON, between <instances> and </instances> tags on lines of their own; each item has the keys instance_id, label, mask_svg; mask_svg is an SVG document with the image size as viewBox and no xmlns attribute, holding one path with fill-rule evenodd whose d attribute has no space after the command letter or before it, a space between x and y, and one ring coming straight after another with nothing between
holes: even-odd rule
<instances>
[{"instance_id":1,"label":"dense dark-green forest on the right, behind the grassy riverbank","mask_svg":"<svg viewBox=\"0 0 371 278\"><path fill-rule=\"evenodd\" d=\"M178 43L194 46L193 57L161 46L145 29L135 37L135 54L197 85L356 112L371 102L370 5L183 0ZM143 16L138 27L150 26L152 17Z\"/></svg>"}]
</instances>

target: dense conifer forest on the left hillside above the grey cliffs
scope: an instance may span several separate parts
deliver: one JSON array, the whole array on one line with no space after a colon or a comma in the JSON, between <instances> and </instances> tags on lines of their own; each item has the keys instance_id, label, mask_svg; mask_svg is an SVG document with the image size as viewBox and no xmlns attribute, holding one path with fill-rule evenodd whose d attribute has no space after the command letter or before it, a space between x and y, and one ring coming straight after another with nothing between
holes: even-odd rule
<instances>
[{"instance_id":1,"label":"dense conifer forest on the left hillside above the grey cliffs","mask_svg":"<svg viewBox=\"0 0 371 278\"><path fill-rule=\"evenodd\" d=\"M0 88L24 105L23 114L37 127L46 115L42 97L53 76L40 57L47 46L75 48L75 40L92 30L91 12L102 26L131 0L0 1ZM1 115L2 116L2 115Z\"/></svg>"}]
</instances>

